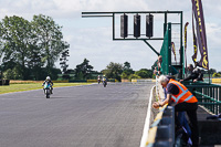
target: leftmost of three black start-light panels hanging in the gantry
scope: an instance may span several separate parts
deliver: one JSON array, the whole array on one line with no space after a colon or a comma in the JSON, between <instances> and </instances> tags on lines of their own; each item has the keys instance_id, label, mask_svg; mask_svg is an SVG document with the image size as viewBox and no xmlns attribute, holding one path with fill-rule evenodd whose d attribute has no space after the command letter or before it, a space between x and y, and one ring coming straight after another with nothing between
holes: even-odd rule
<instances>
[{"instance_id":1,"label":"leftmost of three black start-light panels hanging in the gantry","mask_svg":"<svg viewBox=\"0 0 221 147\"><path fill-rule=\"evenodd\" d=\"M127 38L128 36L128 15L123 14L120 15L120 36Z\"/></svg>"}]
</instances>

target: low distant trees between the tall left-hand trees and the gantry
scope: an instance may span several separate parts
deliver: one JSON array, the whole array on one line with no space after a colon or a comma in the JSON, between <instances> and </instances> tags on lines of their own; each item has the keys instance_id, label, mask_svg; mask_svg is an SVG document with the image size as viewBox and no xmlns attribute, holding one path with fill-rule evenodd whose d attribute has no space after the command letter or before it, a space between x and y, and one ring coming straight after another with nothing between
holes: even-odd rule
<instances>
[{"instance_id":1,"label":"low distant trees between the tall left-hand trees and the gantry","mask_svg":"<svg viewBox=\"0 0 221 147\"><path fill-rule=\"evenodd\" d=\"M129 62L124 64L110 62L106 69L101 72L93 71L93 66L90 65L90 61L84 59L83 63L76 65L74 70L67 70L67 74L74 74L74 80L92 80L96 78L97 75L105 75L107 78L115 78L118 82L122 80L131 78L152 78L152 71L148 69L141 69L139 71L134 71L130 67ZM96 76L94 76L96 75Z\"/></svg>"}]
</instances>

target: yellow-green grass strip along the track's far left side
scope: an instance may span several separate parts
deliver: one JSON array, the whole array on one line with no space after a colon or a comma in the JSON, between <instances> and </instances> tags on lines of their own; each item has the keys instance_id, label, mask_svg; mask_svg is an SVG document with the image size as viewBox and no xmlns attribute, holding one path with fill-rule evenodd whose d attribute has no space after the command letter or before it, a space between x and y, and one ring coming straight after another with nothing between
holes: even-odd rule
<instances>
[{"instance_id":1,"label":"yellow-green grass strip along the track's far left side","mask_svg":"<svg viewBox=\"0 0 221 147\"><path fill-rule=\"evenodd\" d=\"M91 83L54 83L53 87L77 86L77 85L88 85L88 84ZM40 90L40 88L43 88L42 83L10 84L0 86L0 94Z\"/></svg>"}]
</instances>

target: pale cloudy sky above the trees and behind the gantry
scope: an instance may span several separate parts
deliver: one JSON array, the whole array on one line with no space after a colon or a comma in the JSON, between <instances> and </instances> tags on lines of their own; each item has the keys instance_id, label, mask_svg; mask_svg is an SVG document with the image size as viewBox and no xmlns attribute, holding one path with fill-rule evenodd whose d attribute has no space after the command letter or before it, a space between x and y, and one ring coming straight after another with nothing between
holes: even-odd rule
<instances>
[{"instance_id":1,"label":"pale cloudy sky above the trees and behind the gantry","mask_svg":"<svg viewBox=\"0 0 221 147\"><path fill-rule=\"evenodd\" d=\"M202 0L202 6L209 67L221 71L221 0ZM69 69L75 69L87 59L94 71L106 69L110 62L129 62L131 69L138 71L150 69L157 54L143 41L113 41L112 18L82 18L82 12L183 11L183 25L190 23L187 29L187 63L192 64L191 8L191 0L0 0L0 19L18 15L31 21L34 14L51 17L56 24L63 27L63 40L70 44ZM160 17L154 15L154 35L160 36ZM116 28L119 28L119 23ZM119 32L116 34L119 35ZM160 51L162 41L149 43ZM55 65L60 67L59 61Z\"/></svg>"}]
</instances>

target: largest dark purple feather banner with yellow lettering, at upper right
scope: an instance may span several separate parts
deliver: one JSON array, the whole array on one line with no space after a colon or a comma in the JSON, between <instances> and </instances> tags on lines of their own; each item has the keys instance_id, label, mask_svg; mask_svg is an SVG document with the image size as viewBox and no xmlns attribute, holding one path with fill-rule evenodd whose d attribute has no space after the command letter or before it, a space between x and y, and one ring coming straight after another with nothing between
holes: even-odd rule
<instances>
[{"instance_id":1,"label":"largest dark purple feather banner with yellow lettering, at upper right","mask_svg":"<svg viewBox=\"0 0 221 147\"><path fill-rule=\"evenodd\" d=\"M207 36L201 0L192 0L192 12L197 23L197 41L201 54L198 66L209 70Z\"/></svg>"}]
</instances>

